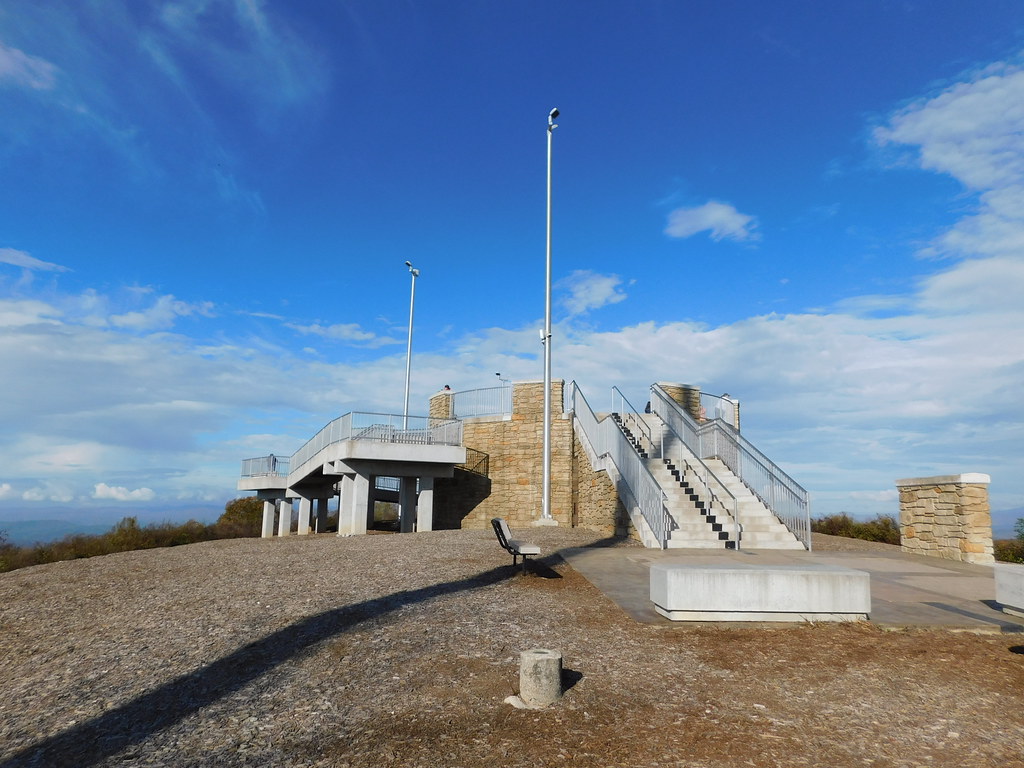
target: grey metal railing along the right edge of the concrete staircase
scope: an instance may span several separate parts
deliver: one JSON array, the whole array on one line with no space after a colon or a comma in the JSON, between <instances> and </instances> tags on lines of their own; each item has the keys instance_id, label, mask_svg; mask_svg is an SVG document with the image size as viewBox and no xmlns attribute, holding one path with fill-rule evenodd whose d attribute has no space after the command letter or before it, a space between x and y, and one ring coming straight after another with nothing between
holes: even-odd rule
<instances>
[{"instance_id":1,"label":"grey metal railing along the right edge of the concrete staircase","mask_svg":"<svg viewBox=\"0 0 1024 768\"><path fill-rule=\"evenodd\" d=\"M811 549L811 505L807 492L745 437L721 420L698 425L656 384L651 408L700 459L718 458L772 513Z\"/></svg>"}]
</instances>

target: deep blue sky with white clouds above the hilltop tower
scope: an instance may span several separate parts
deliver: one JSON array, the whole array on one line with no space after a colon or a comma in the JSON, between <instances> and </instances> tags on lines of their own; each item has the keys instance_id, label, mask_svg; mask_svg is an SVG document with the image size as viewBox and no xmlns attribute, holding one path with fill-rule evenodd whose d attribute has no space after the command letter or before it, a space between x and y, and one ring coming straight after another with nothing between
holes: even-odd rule
<instances>
[{"instance_id":1,"label":"deep blue sky with white clouds above the hilltop tower","mask_svg":"<svg viewBox=\"0 0 1024 768\"><path fill-rule=\"evenodd\" d=\"M1019 2L6 0L0 520L217 509L352 410L729 391L814 511L1024 506ZM419 404L416 404L419 403Z\"/></svg>"}]
</instances>

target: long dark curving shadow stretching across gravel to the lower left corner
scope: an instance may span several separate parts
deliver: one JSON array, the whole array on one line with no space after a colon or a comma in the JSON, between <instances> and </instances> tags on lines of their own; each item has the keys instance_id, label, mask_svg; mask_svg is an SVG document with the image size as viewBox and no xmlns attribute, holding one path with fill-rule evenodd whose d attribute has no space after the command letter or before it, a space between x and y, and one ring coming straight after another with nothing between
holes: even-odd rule
<instances>
[{"instance_id":1,"label":"long dark curving shadow stretching across gravel to the lower left corner","mask_svg":"<svg viewBox=\"0 0 1024 768\"><path fill-rule=\"evenodd\" d=\"M557 557L557 552L550 557ZM543 578L561 579L550 566L545 567L554 575ZM500 565L466 579L394 592L307 616L102 715L23 748L0 762L0 768L61 765L85 768L94 765L234 693L311 646L348 632L368 620L437 597L488 587L508 581L518 572L518 566Z\"/></svg>"}]
</instances>

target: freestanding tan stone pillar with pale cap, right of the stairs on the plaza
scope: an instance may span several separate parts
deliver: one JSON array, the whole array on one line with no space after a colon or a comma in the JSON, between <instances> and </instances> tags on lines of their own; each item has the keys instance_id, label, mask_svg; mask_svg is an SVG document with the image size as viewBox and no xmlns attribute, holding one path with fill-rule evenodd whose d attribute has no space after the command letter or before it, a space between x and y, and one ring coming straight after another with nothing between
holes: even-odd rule
<instances>
[{"instance_id":1,"label":"freestanding tan stone pillar with pale cap, right of the stairs on the plaza","mask_svg":"<svg viewBox=\"0 0 1024 768\"><path fill-rule=\"evenodd\" d=\"M992 517L988 475L972 472L896 480L904 552L990 563Z\"/></svg>"}]
</instances>

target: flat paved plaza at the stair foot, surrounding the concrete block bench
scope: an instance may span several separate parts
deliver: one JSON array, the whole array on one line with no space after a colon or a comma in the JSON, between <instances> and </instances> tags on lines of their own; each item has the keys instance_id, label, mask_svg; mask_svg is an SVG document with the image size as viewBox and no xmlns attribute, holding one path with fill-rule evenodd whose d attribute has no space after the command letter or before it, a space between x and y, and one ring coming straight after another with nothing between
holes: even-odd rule
<instances>
[{"instance_id":1,"label":"flat paved plaza at the stair foot, surrounding the concrete block bench","mask_svg":"<svg viewBox=\"0 0 1024 768\"><path fill-rule=\"evenodd\" d=\"M973 565L900 552L735 552L615 547L569 549L560 554L623 610L645 624L686 626L685 622L670 622L654 610L648 581L648 570L652 563L820 563L870 573L870 621L881 627L1024 632L1024 618L999 610L995 602L993 568L990 565Z\"/></svg>"}]
</instances>

